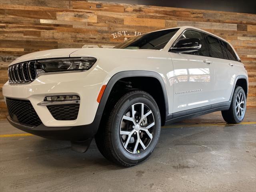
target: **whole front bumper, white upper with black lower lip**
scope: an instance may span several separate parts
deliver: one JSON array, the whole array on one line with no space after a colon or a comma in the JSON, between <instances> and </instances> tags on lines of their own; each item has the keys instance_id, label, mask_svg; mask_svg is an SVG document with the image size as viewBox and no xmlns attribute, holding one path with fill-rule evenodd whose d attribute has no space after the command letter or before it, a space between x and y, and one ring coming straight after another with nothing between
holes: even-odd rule
<instances>
[{"instance_id":1,"label":"whole front bumper, white upper with black lower lip","mask_svg":"<svg viewBox=\"0 0 256 192\"><path fill-rule=\"evenodd\" d=\"M31 126L16 121L16 117L14 119L8 117L8 121L20 130L44 138L73 141L92 138L98 130L101 118L101 114L96 116L99 105L97 97L107 77L106 72L95 67L83 72L42 75L28 84L6 82L3 86L5 100L8 98L29 101L42 124ZM46 96L58 95L80 97L79 111L75 120L56 120L47 106L40 105Z\"/></svg>"}]
</instances>

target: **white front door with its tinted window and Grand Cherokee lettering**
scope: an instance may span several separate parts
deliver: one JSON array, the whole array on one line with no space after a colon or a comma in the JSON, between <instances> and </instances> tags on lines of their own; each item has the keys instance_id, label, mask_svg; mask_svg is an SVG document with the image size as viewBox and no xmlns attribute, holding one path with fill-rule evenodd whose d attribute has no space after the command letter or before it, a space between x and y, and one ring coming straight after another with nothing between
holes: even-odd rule
<instances>
[{"instance_id":1,"label":"white front door with its tinted window and Grand Cherokee lettering","mask_svg":"<svg viewBox=\"0 0 256 192\"><path fill-rule=\"evenodd\" d=\"M214 67L204 33L186 30L180 38L199 38L202 46L190 53L170 52L174 68L174 113L210 105L214 100Z\"/></svg>"}]
</instances>

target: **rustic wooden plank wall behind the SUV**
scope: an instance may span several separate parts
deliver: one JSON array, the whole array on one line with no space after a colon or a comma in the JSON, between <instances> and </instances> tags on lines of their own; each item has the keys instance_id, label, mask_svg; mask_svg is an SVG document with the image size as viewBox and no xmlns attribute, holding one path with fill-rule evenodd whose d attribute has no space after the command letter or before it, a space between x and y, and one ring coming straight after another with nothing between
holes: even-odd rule
<instances>
[{"instance_id":1,"label":"rustic wooden plank wall behind the SUV","mask_svg":"<svg viewBox=\"0 0 256 192\"><path fill-rule=\"evenodd\" d=\"M256 15L72 0L0 0L0 119L2 85L15 58L55 48L113 46L141 33L196 26L236 48L249 75L248 105L256 105Z\"/></svg>"}]
</instances>

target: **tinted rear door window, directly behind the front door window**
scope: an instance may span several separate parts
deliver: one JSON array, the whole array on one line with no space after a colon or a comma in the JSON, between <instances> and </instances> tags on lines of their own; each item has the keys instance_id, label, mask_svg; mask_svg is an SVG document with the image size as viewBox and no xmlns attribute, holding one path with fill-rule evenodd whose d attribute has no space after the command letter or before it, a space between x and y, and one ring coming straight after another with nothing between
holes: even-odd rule
<instances>
[{"instance_id":1,"label":"tinted rear door window, directly behind the front door window","mask_svg":"<svg viewBox=\"0 0 256 192\"><path fill-rule=\"evenodd\" d=\"M224 58L218 38L206 34L210 57Z\"/></svg>"}]
</instances>

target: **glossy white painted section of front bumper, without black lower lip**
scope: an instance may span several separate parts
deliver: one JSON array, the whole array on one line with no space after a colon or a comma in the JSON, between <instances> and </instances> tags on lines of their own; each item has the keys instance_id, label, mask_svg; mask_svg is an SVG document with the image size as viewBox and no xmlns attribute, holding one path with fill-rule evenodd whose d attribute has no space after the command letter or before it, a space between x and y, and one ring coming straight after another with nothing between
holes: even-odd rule
<instances>
[{"instance_id":1,"label":"glossy white painted section of front bumper, without black lower lip","mask_svg":"<svg viewBox=\"0 0 256 192\"><path fill-rule=\"evenodd\" d=\"M97 77L97 78L96 78ZM75 126L90 124L94 120L98 102L96 101L100 88L108 74L95 66L86 72L71 72L68 74L50 74L39 76L30 84L8 84L3 88L5 97L30 100L41 121L46 126ZM38 103L45 96L72 95L80 96L78 118L70 121L55 120L46 106Z\"/></svg>"}]
</instances>

